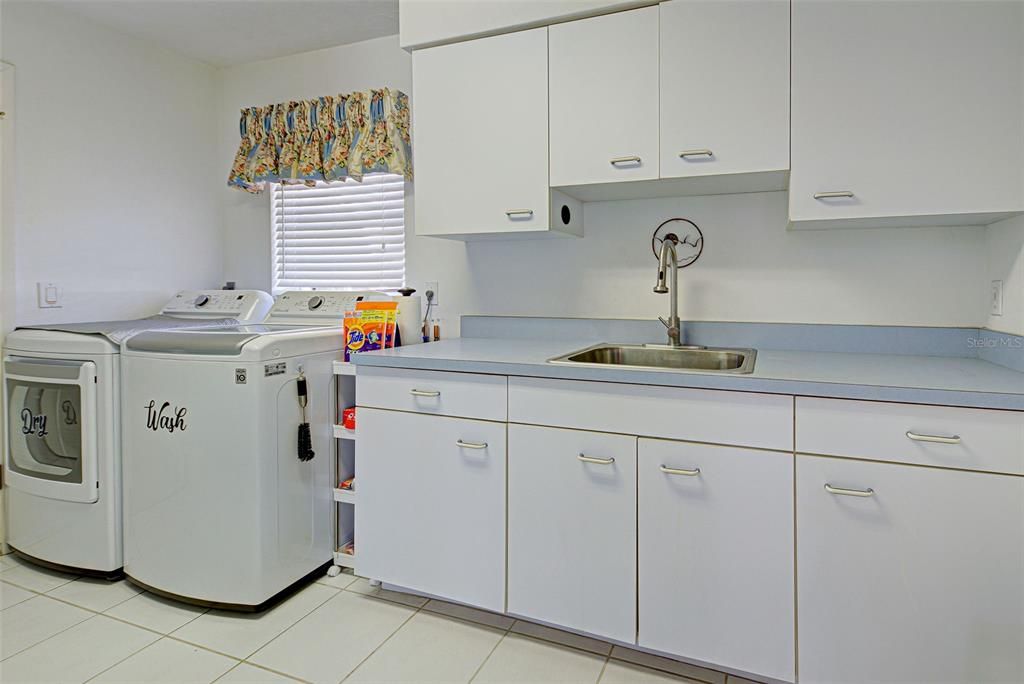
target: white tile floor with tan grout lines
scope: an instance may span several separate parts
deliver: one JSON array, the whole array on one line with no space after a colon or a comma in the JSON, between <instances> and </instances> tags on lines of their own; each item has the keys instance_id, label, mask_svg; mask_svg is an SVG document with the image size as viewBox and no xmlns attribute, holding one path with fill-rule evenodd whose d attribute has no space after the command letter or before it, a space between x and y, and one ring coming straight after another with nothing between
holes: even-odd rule
<instances>
[{"instance_id":1,"label":"white tile floor with tan grout lines","mask_svg":"<svg viewBox=\"0 0 1024 684\"><path fill-rule=\"evenodd\" d=\"M258 615L0 556L0 682L745 680L505 615L323 578Z\"/></svg>"}]
</instances>

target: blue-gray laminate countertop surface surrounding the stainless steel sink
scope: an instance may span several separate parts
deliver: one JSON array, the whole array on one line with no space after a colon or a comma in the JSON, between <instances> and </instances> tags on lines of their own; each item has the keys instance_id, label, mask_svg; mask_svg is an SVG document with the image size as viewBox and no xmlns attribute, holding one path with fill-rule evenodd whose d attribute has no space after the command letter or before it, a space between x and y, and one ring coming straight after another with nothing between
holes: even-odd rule
<instances>
[{"instance_id":1,"label":"blue-gray laminate countertop surface surrounding the stainless steel sink","mask_svg":"<svg viewBox=\"0 0 1024 684\"><path fill-rule=\"evenodd\" d=\"M464 337L354 354L377 366L1024 411L1024 373L957 356L758 349L754 372L641 371L548 364L600 339Z\"/></svg>"}]
</instances>

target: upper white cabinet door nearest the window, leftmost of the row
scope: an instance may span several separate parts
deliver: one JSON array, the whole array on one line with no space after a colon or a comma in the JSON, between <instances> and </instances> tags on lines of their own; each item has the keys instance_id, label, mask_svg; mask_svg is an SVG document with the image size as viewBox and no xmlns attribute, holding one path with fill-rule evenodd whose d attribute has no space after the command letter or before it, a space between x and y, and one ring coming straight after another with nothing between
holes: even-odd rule
<instances>
[{"instance_id":1,"label":"upper white cabinet door nearest the window, leftmost of the row","mask_svg":"<svg viewBox=\"0 0 1024 684\"><path fill-rule=\"evenodd\" d=\"M547 230L547 29L416 50L412 108L417 234Z\"/></svg>"}]
</instances>

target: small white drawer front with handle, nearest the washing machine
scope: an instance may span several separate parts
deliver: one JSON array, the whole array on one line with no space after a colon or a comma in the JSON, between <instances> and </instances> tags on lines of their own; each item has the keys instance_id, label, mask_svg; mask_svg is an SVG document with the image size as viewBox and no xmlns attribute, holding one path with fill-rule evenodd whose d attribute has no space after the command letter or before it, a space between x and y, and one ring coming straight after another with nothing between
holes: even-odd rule
<instances>
[{"instance_id":1,"label":"small white drawer front with handle, nearest the washing machine","mask_svg":"<svg viewBox=\"0 0 1024 684\"><path fill-rule=\"evenodd\" d=\"M508 379L499 375L360 367L356 371L355 403L504 422L508 416Z\"/></svg>"}]
</instances>

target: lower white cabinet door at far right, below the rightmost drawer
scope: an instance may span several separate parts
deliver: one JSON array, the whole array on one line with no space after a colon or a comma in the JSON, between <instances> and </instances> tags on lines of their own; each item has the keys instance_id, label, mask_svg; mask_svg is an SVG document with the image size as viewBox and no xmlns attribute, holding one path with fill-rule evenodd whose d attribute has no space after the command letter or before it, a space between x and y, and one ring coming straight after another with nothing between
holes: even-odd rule
<instances>
[{"instance_id":1,"label":"lower white cabinet door at far right, below the rightmost drawer","mask_svg":"<svg viewBox=\"0 0 1024 684\"><path fill-rule=\"evenodd\" d=\"M802 682L1024 681L1024 478L798 456L797 539Z\"/></svg>"}]
</instances>

